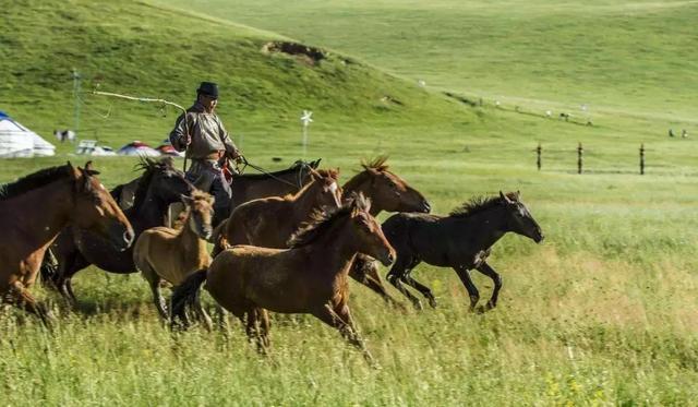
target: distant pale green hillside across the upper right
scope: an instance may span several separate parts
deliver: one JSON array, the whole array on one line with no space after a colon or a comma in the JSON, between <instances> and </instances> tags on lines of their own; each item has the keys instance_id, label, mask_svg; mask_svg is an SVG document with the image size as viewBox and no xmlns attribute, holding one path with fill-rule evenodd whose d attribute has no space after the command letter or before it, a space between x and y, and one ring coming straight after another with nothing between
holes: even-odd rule
<instances>
[{"instance_id":1,"label":"distant pale green hillside across the upper right","mask_svg":"<svg viewBox=\"0 0 698 407\"><path fill-rule=\"evenodd\" d=\"M531 105L698 118L696 1L173 0L342 49L435 88Z\"/></svg>"}]
</instances>

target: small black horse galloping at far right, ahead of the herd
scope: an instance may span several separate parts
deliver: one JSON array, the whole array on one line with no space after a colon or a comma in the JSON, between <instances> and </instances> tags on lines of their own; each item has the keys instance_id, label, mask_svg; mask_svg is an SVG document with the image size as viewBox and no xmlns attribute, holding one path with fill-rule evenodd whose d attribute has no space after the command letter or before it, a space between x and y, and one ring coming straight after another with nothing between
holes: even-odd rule
<instances>
[{"instance_id":1,"label":"small black horse galloping at far right, ahead of the herd","mask_svg":"<svg viewBox=\"0 0 698 407\"><path fill-rule=\"evenodd\" d=\"M422 308L419 299L401 283L420 291L430 306L436 307L432 291L414 280L410 272L421 262L453 267L468 290L470 310L474 310L480 294L470 279L469 271L476 268L494 282L492 298L480 310L493 309L497 304L502 277L486 263L486 259L492 246L508 231L526 236L537 243L543 240L540 226L519 201L518 192L506 195L500 192L500 196L474 199L449 216L413 213L393 215L383 224L383 232L397 253L387 279L417 309Z\"/></svg>"}]
</instances>

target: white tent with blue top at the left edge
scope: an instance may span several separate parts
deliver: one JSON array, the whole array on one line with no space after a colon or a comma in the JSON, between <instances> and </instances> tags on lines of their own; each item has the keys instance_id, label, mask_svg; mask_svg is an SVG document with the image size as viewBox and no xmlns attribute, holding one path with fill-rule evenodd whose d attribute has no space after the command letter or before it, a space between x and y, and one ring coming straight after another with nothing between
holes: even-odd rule
<instances>
[{"instance_id":1,"label":"white tent with blue top at the left edge","mask_svg":"<svg viewBox=\"0 0 698 407\"><path fill-rule=\"evenodd\" d=\"M50 156L53 144L0 111L0 158Z\"/></svg>"}]
</instances>

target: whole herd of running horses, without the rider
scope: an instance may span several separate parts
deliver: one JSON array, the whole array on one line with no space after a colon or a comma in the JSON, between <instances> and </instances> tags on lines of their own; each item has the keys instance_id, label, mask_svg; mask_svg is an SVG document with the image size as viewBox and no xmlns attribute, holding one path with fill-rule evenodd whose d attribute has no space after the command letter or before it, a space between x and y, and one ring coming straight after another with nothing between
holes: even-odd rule
<instances>
[{"instance_id":1,"label":"whole herd of running horses, without the rider","mask_svg":"<svg viewBox=\"0 0 698 407\"><path fill-rule=\"evenodd\" d=\"M496 307L502 287L486 263L492 246L509 231L543 239L518 192L473 199L437 216L420 192L388 169L385 157L362 163L363 170L342 187L339 171L317 169L318 163L236 176L232 210L220 225L212 224L213 197L167 158L143 158L141 177L111 193L91 163L43 169L0 185L2 300L50 324L50 311L27 291L39 271L74 303L71 278L94 264L118 274L141 272L159 314L173 326L189 326L190 312L210 326L200 302L205 283L261 350L269 345L268 311L309 313L370 358L351 319L348 277L402 308L385 289L374 259L392 265L388 282L418 309L419 298L405 285L436 306L431 289L411 276L426 262L453 267L470 309L485 311ZM184 211L166 227L173 203L183 203ZM375 216L382 211L397 214L380 225ZM207 241L214 243L210 254ZM470 270L494 283L484 307L478 307ZM164 283L174 287L171 310L160 292Z\"/></svg>"}]
</instances>

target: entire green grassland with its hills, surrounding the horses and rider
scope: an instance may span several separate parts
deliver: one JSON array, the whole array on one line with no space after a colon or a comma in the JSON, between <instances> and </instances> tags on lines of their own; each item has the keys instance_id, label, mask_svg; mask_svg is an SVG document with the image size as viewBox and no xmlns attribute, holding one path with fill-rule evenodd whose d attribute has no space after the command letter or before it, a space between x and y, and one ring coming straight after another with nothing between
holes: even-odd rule
<instances>
[{"instance_id":1,"label":"entire green grassland with its hills, surrounding the horses and rider","mask_svg":"<svg viewBox=\"0 0 698 407\"><path fill-rule=\"evenodd\" d=\"M267 358L238 323L173 337L142 277L89 268L75 278L77 312L34 289L62 314L56 332L0 313L0 404L695 404L695 2L159 4L14 2L0 15L0 110L47 135L72 125L73 67L86 91L99 83L181 104L210 77L225 89L224 121L255 164L297 159L298 116L312 109L308 158L340 167L344 180L361 158L389 154L435 213L520 190L546 239L537 246L507 236L494 248L504 288L484 315L467 312L449 270L414 272L440 300L423 312L387 309L352 284L354 318L380 369L305 316L274 316ZM309 67L260 52L278 38L327 47L333 57ZM401 105L386 104L386 95ZM112 146L157 143L174 120L153 106L83 98L83 136ZM592 127L540 117L582 103ZM669 139L669 128L691 137ZM574 173L578 142L587 148L582 176ZM648 147L642 177L640 143ZM3 160L0 181L65 159L82 164L71 151ZM96 160L109 187L130 180L133 164ZM474 278L484 300L491 284Z\"/></svg>"}]
</instances>

